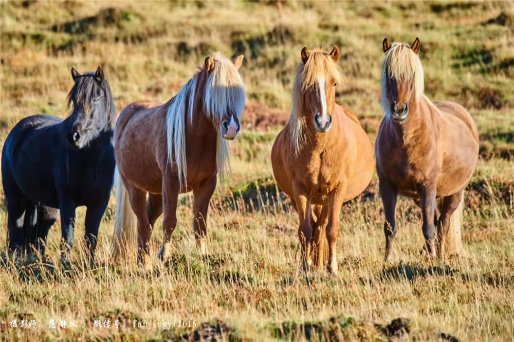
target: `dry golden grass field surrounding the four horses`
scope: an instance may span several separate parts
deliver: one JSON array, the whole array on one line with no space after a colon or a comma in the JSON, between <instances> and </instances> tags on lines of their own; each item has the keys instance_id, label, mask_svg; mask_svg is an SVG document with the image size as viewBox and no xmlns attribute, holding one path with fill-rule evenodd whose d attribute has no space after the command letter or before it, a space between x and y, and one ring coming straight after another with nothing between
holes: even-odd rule
<instances>
[{"instance_id":1,"label":"dry golden grass field surrounding the four horses","mask_svg":"<svg viewBox=\"0 0 514 342\"><path fill-rule=\"evenodd\" d=\"M231 143L232 174L211 202L207 257L196 249L191 197L184 195L166 261L156 258L160 219L149 264L109 262L113 194L95 268L83 267L83 208L71 266L59 263L59 221L48 239L52 264L11 260L0 190L0 340L514 339L512 1L2 1L0 21L0 146L26 116L66 117L72 66L104 68L118 113L137 99L168 100L217 50L244 53L247 89L242 132ZM300 50L340 47L337 101L357 113L374 142L386 36L409 43L419 37L426 94L463 104L478 124L481 157L465 195L464 254L421 257L420 211L401 199L394 262L384 265L375 176L343 206L340 275L304 274L298 217L277 191L269 158L289 114ZM10 327L14 319L17 328ZM22 328L21 320L36 325ZM154 328L154 320L171 329ZM138 327L142 322L151 329Z\"/></svg>"}]
</instances>

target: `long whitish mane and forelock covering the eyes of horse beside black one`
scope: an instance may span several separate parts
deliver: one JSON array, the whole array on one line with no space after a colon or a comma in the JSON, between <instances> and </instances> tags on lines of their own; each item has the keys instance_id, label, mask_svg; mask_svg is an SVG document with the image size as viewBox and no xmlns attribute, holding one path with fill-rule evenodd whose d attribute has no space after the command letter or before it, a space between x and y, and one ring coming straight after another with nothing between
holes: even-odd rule
<instances>
[{"instance_id":1,"label":"long whitish mane and forelock covering the eyes of horse beside black one","mask_svg":"<svg viewBox=\"0 0 514 342\"><path fill-rule=\"evenodd\" d=\"M245 107L245 89L241 75L231 60L219 52L214 53L212 59L215 66L205 82L203 105L206 114L216 126L219 126L227 111L241 119ZM204 71L204 68L199 68L172 99L166 115L168 161L170 163L172 160L175 161L180 188L187 187L186 117L189 115L192 123L195 95L201 71ZM229 166L228 143L218 132L216 167L219 177L225 176Z\"/></svg>"}]
</instances>

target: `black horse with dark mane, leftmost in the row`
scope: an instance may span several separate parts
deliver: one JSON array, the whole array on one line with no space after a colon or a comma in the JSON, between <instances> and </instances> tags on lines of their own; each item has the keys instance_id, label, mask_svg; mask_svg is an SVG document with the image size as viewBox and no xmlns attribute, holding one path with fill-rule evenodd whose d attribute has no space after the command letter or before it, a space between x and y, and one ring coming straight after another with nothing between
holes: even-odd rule
<instances>
[{"instance_id":1,"label":"black horse with dark mane, leftmost in the row","mask_svg":"<svg viewBox=\"0 0 514 342\"><path fill-rule=\"evenodd\" d=\"M98 227L113 187L116 107L103 70L80 75L68 94L71 115L21 120L2 150L9 252L33 249L44 257L48 230L61 212L61 259L74 244L75 210L86 206L85 241L94 262Z\"/></svg>"}]
</instances>

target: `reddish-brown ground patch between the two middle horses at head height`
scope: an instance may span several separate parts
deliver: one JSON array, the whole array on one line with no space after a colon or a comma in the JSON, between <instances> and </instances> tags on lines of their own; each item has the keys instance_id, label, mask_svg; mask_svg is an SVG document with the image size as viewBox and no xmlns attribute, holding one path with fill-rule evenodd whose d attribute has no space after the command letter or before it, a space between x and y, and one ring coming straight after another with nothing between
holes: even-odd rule
<instances>
[{"instance_id":1,"label":"reddish-brown ground patch between the two middle horses at head height","mask_svg":"<svg viewBox=\"0 0 514 342\"><path fill-rule=\"evenodd\" d=\"M246 128L267 129L272 126L285 126L289 119L289 112L270 108L265 104L250 102L245 106L243 125Z\"/></svg>"}]
</instances>

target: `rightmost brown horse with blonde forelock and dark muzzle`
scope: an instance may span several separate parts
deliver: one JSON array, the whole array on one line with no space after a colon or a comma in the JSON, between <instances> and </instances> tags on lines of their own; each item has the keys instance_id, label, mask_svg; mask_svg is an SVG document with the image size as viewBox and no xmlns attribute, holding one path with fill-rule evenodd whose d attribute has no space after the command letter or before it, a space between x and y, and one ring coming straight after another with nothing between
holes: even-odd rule
<instances>
[{"instance_id":1,"label":"rightmost brown horse with blonde forelock and dark muzzle","mask_svg":"<svg viewBox=\"0 0 514 342\"><path fill-rule=\"evenodd\" d=\"M386 235L386 261L396 235L398 194L421 208L423 236L430 257L461 249L463 192L476 168L479 134L460 105L432 103L423 94L424 73L412 45L383 40L382 107L385 117L375 143ZM437 246L435 227L437 226ZM450 234L448 234L450 232ZM436 248L434 248L436 247Z\"/></svg>"}]
</instances>

